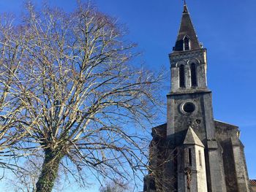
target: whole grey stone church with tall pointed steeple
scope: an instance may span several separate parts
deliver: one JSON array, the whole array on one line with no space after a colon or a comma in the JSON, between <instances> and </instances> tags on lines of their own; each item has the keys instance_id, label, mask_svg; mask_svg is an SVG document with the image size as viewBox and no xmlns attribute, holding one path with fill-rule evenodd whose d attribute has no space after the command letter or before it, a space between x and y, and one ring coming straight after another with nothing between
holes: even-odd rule
<instances>
[{"instance_id":1,"label":"whole grey stone church with tall pointed steeple","mask_svg":"<svg viewBox=\"0 0 256 192\"><path fill-rule=\"evenodd\" d=\"M207 57L184 4L169 55L167 123L152 128L144 192L249 192L238 126L214 120Z\"/></svg>"}]
</instances>

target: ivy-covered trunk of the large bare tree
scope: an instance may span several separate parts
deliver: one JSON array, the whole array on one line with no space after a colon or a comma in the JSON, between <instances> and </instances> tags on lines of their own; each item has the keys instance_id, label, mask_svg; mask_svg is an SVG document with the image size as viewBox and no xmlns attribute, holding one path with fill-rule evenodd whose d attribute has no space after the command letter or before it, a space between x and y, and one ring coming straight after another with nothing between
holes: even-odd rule
<instances>
[{"instance_id":1,"label":"ivy-covered trunk of the large bare tree","mask_svg":"<svg viewBox=\"0 0 256 192\"><path fill-rule=\"evenodd\" d=\"M50 192L53 189L54 182L58 176L61 155L53 150L45 150L45 159L42 164L42 172L37 180L36 192Z\"/></svg>"}]
</instances>

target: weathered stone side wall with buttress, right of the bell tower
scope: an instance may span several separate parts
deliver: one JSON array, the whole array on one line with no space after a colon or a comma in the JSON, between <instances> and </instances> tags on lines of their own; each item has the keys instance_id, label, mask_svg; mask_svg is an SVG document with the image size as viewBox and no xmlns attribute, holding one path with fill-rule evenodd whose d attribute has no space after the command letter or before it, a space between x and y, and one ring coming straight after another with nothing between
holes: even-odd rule
<instances>
[{"instance_id":1,"label":"weathered stone side wall with buttress, right of the bell tower","mask_svg":"<svg viewBox=\"0 0 256 192\"><path fill-rule=\"evenodd\" d=\"M227 191L246 192L249 191L249 179L244 157L244 146L239 140L237 126L215 121L217 139L222 145L223 163Z\"/></svg>"}]
</instances>

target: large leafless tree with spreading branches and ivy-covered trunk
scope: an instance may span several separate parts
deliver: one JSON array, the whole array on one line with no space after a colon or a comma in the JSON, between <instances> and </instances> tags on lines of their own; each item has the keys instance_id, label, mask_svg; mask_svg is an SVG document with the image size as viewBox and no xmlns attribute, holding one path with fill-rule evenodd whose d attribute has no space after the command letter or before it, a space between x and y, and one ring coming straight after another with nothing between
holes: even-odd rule
<instances>
[{"instance_id":1,"label":"large leafless tree with spreading branches and ivy-covered trunk","mask_svg":"<svg viewBox=\"0 0 256 192\"><path fill-rule=\"evenodd\" d=\"M89 4L67 13L29 3L20 28L24 40L12 40L23 54L16 85L26 132L20 146L43 150L37 191L52 190L60 164L82 183L89 175L141 177L143 128L157 114L162 74L133 66L138 53L124 28Z\"/></svg>"}]
</instances>

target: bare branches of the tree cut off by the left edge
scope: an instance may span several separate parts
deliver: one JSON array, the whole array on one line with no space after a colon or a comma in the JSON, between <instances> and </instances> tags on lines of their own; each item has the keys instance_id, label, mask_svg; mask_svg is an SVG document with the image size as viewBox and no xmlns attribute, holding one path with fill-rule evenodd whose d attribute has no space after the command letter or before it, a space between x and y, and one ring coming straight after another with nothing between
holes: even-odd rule
<instances>
[{"instance_id":1,"label":"bare branches of the tree cut off by the left edge","mask_svg":"<svg viewBox=\"0 0 256 192\"><path fill-rule=\"evenodd\" d=\"M20 64L23 58L21 43L23 35L19 27L12 24L10 15L0 20L0 166L11 168L7 157L15 157L13 147L25 134L20 128L20 113L23 105L20 97ZM17 154L18 156L18 154ZM9 161L9 163L7 162Z\"/></svg>"}]
</instances>

